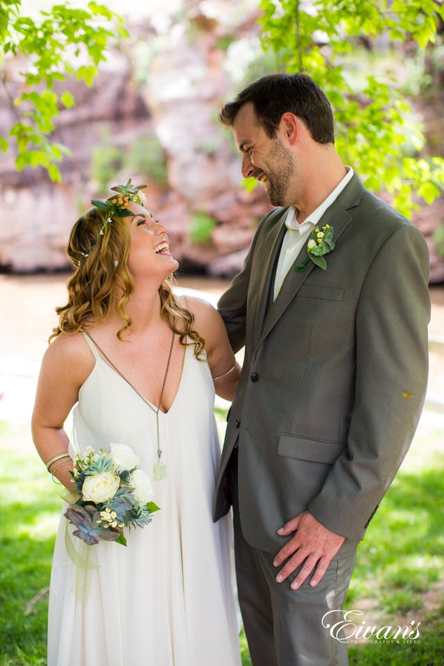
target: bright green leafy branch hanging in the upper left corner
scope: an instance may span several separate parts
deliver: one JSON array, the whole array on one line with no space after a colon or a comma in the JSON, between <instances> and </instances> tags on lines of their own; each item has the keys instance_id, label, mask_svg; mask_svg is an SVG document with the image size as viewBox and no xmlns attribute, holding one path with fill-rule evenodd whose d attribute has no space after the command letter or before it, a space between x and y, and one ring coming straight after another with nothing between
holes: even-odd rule
<instances>
[{"instance_id":1,"label":"bright green leafy branch hanging in the upper left corner","mask_svg":"<svg viewBox=\"0 0 444 666\"><path fill-rule=\"evenodd\" d=\"M109 28L101 25L101 19ZM56 162L69 151L50 137L59 106L71 108L76 101L68 89L57 92L56 83L74 76L92 85L110 41L126 37L123 19L96 2L81 9L54 4L33 18L22 13L20 0L1 0L0 65L5 58L27 59L26 69L20 71L21 92L11 99L16 121L8 136L0 137L3 152L11 144L17 148L19 171L26 165L42 166L51 180L61 179ZM7 79L3 68L3 87Z\"/></svg>"}]
</instances>

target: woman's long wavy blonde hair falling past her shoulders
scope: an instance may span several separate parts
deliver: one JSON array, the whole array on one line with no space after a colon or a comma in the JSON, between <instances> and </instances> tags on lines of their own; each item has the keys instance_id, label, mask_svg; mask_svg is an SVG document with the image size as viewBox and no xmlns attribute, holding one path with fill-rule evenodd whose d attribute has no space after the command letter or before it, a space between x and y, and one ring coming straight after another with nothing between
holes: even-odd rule
<instances>
[{"instance_id":1,"label":"woman's long wavy blonde hair falling past her shoulders","mask_svg":"<svg viewBox=\"0 0 444 666\"><path fill-rule=\"evenodd\" d=\"M134 289L128 270L130 234L121 218L110 219L103 228L106 216L98 208L92 208L71 230L67 253L75 271L67 284L67 305L56 307L59 323L49 342L62 332L91 330L108 316L112 307L125 322L117 332L119 340L124 341L123 334L131 328L132 321L125 309ZM103 234L96 242L102 228ZM176 280L169 275L159 287L160 315L179 335L182 345L194 345L194 355L199 358L205 340L194 330L194 315L176 302L172 291L174 284ZM114 305L117 289L120 289L121 296Z\"/></svg>"}]
</instances>

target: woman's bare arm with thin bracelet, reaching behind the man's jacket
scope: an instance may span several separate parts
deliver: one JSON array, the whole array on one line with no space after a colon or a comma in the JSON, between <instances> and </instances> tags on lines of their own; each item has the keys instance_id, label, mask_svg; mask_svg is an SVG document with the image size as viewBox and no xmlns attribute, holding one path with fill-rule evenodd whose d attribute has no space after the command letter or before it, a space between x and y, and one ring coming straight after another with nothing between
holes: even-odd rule
<instances>
[{"instance_id":1,"label":"woman's bare arm with thin bracelet, reaching behind the man's jacket","mask_svg":"<svg viewBox=\"0 0 444 666\"><path fill-rule=\"evenodd\" d=\"M232 400L241 366L234 357L227 331L219 312L206 300L187 297L187 307L194 315L195 329L205 340L208 365L217 395Z\"/></svg>"}]
</instances>

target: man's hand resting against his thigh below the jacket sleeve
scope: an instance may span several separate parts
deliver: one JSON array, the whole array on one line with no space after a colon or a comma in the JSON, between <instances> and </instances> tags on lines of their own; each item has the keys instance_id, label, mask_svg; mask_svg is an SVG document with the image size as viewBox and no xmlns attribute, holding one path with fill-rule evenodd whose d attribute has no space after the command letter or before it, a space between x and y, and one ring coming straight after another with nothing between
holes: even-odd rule
<instances>
[{"instance_id":1,"label":"man's hand resting against his thigh below the jacket sleeve","mask_svg":"<svg viewBox=\"0 0 444 666\"><path fill-rule=\"evenodd\" d=\"M273 561L273 565L278 567L290 558L276 576L276 580L282 583L303 562L304 565L290 587L297 590L313 571L310 585L314 587L323 578L330 561L343 544L344 537L324 527L308 511L300 513L278 529L279 536L288 536L292 532L294 536L280 549Z\"/></svg>"}]
</instances>

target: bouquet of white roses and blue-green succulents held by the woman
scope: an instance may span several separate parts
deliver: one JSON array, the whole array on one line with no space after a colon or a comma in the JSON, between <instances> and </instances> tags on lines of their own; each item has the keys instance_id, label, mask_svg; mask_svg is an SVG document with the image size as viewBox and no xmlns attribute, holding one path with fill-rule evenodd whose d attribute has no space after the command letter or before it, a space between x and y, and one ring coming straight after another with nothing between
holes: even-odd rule
<instances>
[{"instance_id":1,"label":"bouquet of white roses and blue-green succulents held by the woman","mask_svg":"<svg viewBox=\"0 0 444 666\"><path fill-rule=\"evenodd\" d=\"M159 507L151 501L151 481L139 463L132 448L118 443L110 444L109 453L88 447L83 456L76 456L71 475L78 499L64 513L76 526L74 536L89 546L101 539L126 546L124 527L151 522Z\"/></svg>"}]
</instances>

